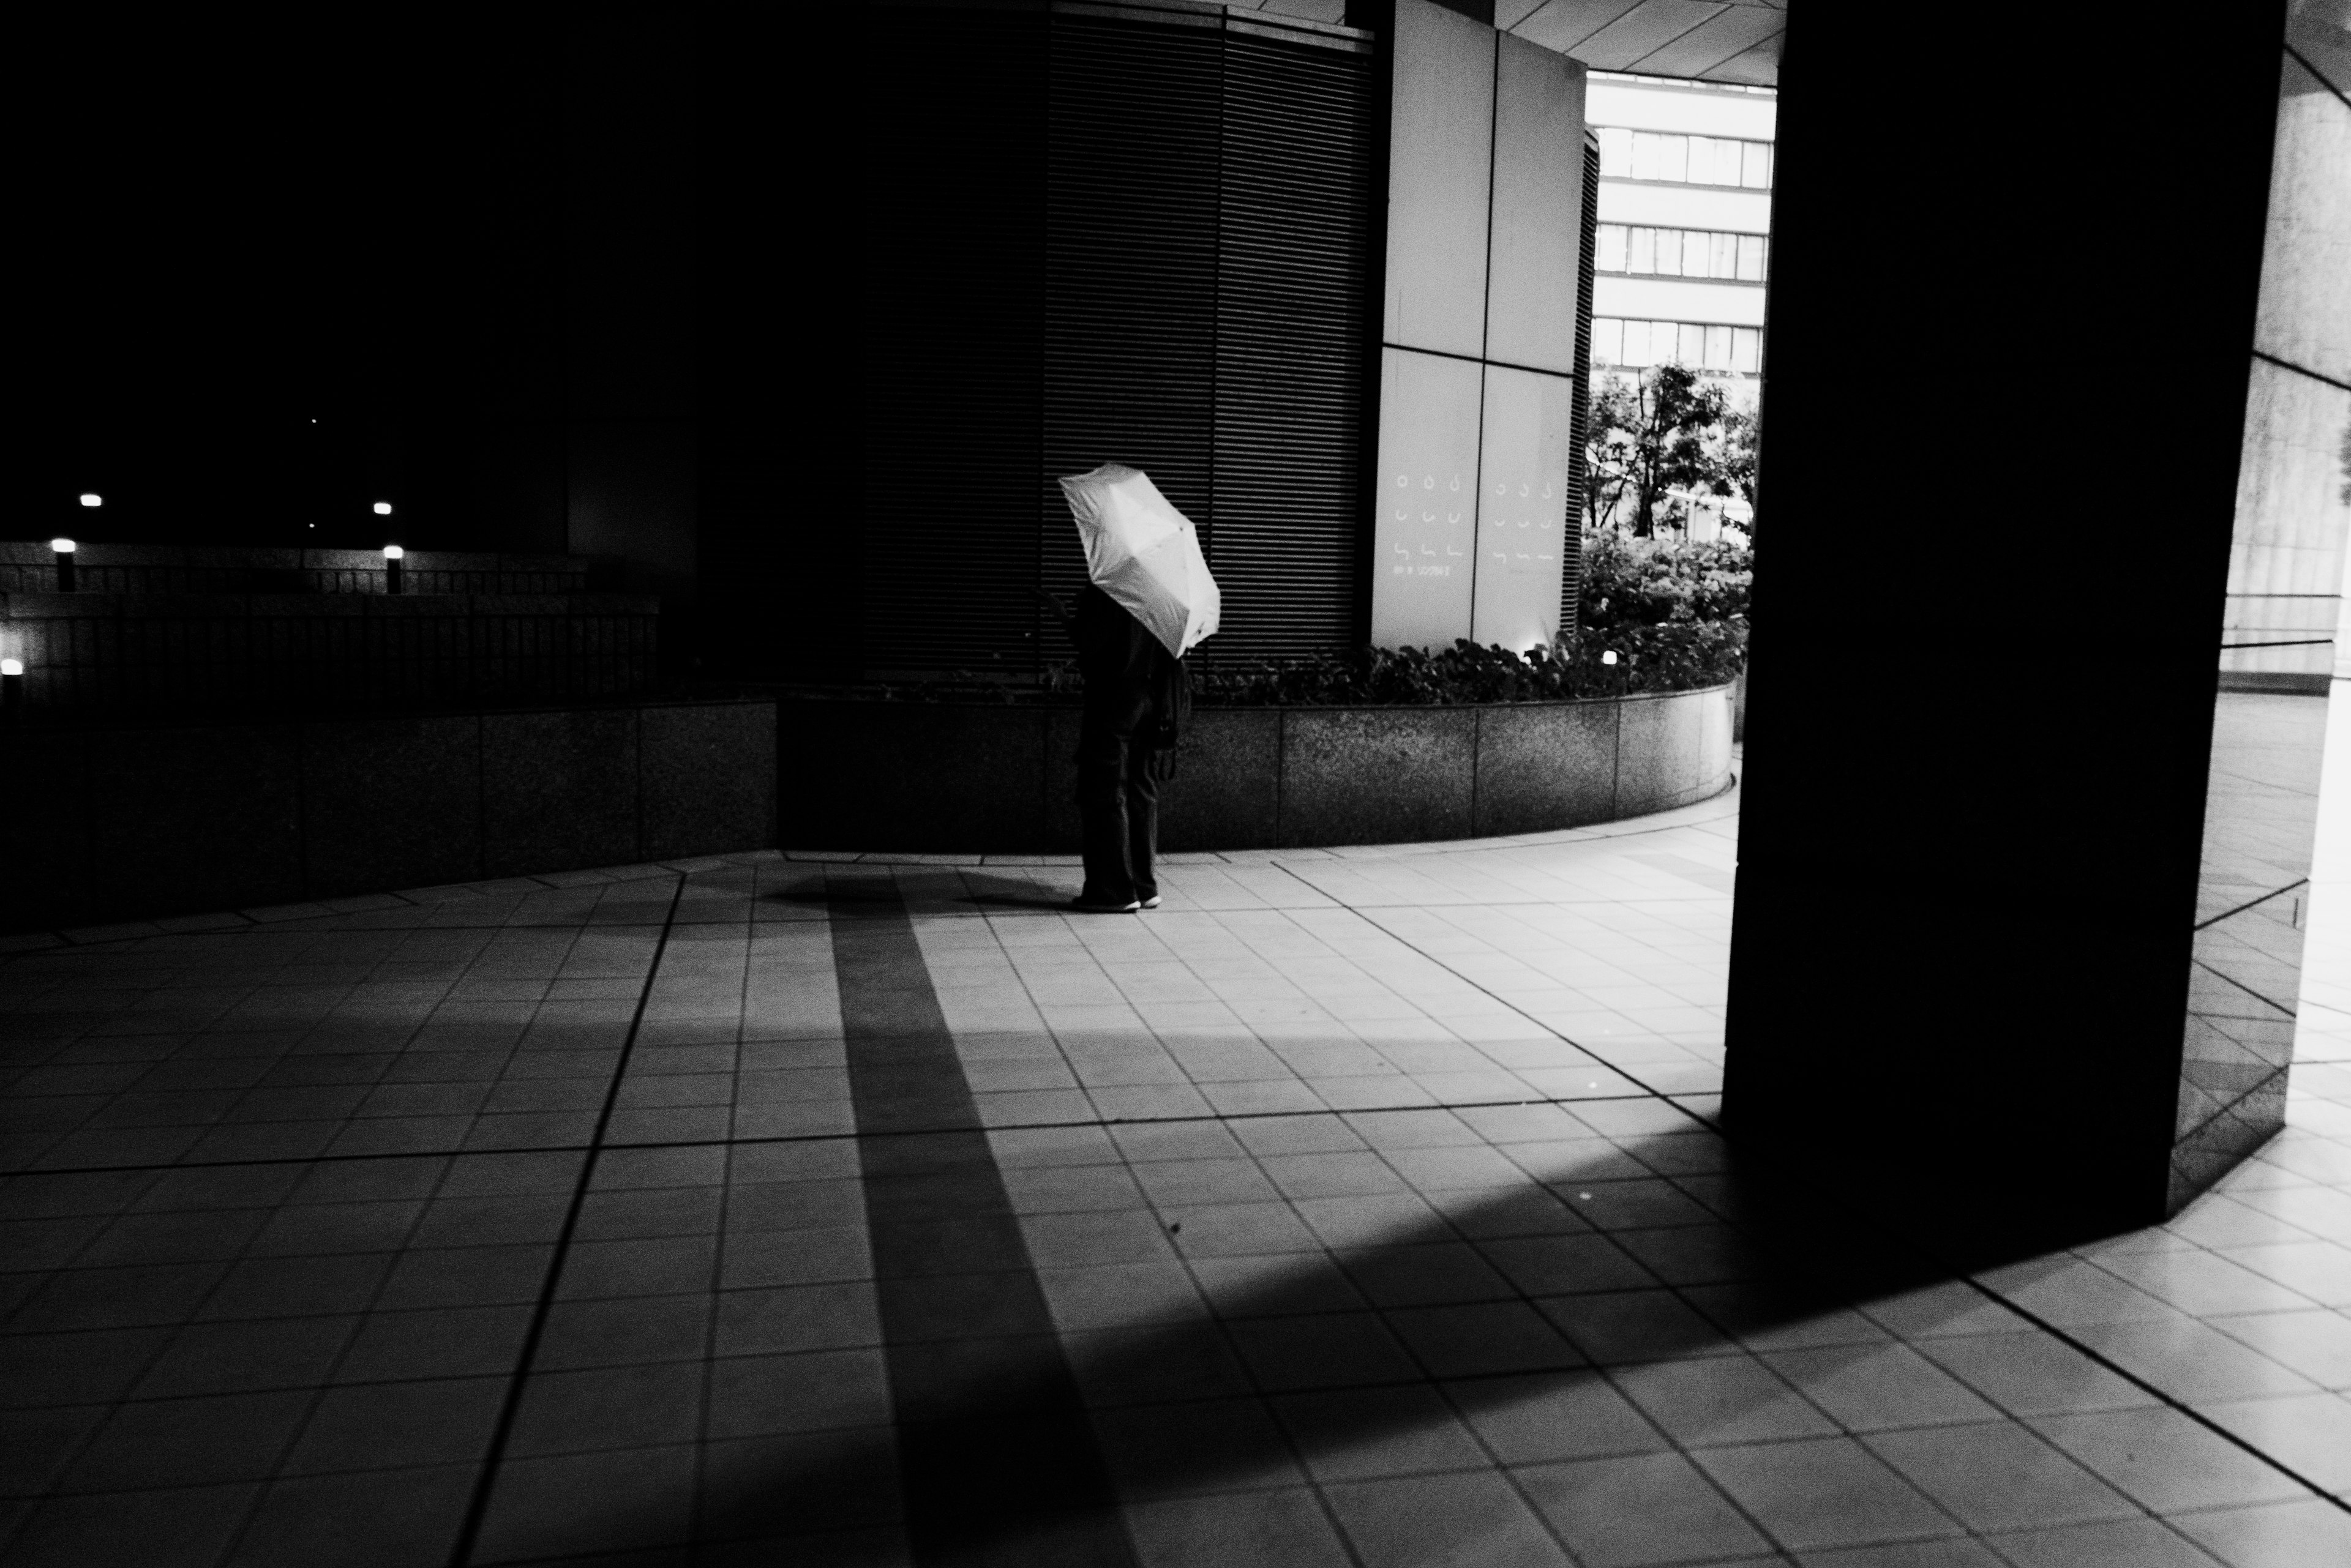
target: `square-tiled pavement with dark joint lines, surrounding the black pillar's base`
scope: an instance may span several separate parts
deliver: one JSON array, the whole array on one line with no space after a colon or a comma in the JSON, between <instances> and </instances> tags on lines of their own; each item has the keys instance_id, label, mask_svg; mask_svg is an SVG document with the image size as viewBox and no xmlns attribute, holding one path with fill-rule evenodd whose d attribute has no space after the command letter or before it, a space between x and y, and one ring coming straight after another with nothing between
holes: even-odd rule
<instances>
[{"instance_id":1,"label":"square-tiled pavement with dark joint lines, surrounding the black pillar's base","mask_svg":"<svg viewBox=\"0 0 2351 1568\"><path fill-rule=\"evenodd\" d=\"M1707 1126L1735 809L19 945L0 1554L2351 1561L2342 809L2283 1138L1827 1302Z\"/></svg>"}]
</instances>

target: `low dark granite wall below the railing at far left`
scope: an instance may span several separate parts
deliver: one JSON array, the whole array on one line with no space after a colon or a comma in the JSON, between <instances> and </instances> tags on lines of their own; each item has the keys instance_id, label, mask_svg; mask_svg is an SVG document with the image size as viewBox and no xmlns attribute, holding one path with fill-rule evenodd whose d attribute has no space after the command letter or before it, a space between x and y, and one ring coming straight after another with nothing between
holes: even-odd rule
<instances>
[{"instance_id":1,"label":"low dark granite wall below the railing at far left","mask_svg":"<svg viewBox=\"0 0 2351 1568\"><path fill-rule=\"evenodd\" d=\"M776 842L776 703L16 729L0 931Z\"/></svg>"}]
</instances>

